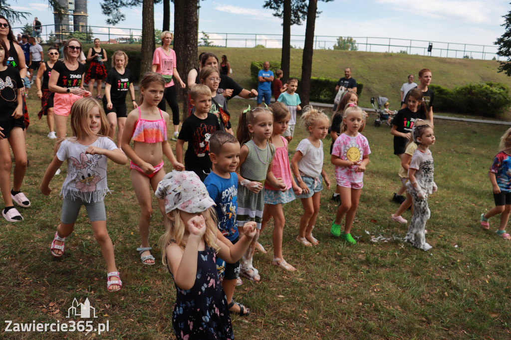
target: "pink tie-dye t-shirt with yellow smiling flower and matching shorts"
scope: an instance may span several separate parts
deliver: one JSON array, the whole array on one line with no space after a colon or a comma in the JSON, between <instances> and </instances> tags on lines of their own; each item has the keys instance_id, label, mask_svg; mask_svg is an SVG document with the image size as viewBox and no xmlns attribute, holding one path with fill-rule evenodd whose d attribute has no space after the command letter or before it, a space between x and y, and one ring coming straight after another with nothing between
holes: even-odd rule
<instances>
[{"instance_id":1,"label":"pink tie-dye t-shirt with yellow smiling flower and matching shorts","mask_svg":"<svg viewBox=\"0 0 511 340\"><path fill-rule=\"evenodd\" d=\"M334 147L332 149L332 155L339 157L342 160L349 161L362 161L364 155L369 155L371 150L369 149L369 143L367 138L358 134L356 137L351 137L342 133L335 140ZM335 167L335 178L347 180L350 183L362 183L364 179L364 173L357 173L358 165L352 166L336 166Z\"/></svg>"}]
</instances>

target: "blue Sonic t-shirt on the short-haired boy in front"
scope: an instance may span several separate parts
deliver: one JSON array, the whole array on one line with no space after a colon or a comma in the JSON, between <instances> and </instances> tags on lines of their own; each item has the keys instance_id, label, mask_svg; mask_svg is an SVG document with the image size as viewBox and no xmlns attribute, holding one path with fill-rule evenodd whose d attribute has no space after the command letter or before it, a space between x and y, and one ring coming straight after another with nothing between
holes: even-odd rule
<instances>
[{"instance_id":1,"label":"blue Sonic t-shirt on the short-haired boy in front","mask_svg":"<svg viewBox=\"0 0 511 340\"><path fill-rule=\"evenodd\" d=\"M214 172L204 180L207 192L216 203L218 229L229 241L235 240L239 233L236 224L236 197L238 196L238 176L230 173L230 179L218 176Z\"/></svg>"}]
</instances>

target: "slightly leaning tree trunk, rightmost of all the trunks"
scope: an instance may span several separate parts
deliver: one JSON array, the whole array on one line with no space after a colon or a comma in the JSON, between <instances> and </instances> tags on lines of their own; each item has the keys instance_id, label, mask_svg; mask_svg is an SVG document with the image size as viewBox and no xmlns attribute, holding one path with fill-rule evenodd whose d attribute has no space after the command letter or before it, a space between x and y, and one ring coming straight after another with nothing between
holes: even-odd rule
<instances>
[{"instance_id":1,"label":"slightly leaning tree trunk, rightmost of all the trunks","mask_svg":"<svg viewBox=\"0 0 511 340\"><path fill-rule=\"evenodd\" d=\"M312 54L314 52L314 26L316 25L317 0L309 0L307 9L307 26L305 28L304 54L301 61L300 99L303 104L309 105L311 90Z\"/></svg>"}]
</instances>

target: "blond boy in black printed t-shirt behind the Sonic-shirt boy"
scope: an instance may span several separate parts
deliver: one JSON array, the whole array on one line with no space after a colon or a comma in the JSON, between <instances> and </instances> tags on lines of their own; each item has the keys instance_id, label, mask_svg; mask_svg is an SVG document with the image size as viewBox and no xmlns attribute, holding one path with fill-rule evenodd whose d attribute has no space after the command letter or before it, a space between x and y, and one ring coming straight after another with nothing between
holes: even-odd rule
<instances>
[{"instance_id":1,"label":"blond boy in black printed t-shirt behind the Sonic-shirt boy","mask_svg":"<svg viewBox=\"0 0 511 340\"><path fill-rule=\"evenodd\" d=\"M183 144L188 142L184 154L184 168L193 171L201 181L206 179L211 170L210 137L220 130L218 118L211 109L211 90L206 85L194 85L190 90L190 103L195 106L195 112L184 120L176 142L176 159L182 163Z\"/></svg>"}]
</instances>

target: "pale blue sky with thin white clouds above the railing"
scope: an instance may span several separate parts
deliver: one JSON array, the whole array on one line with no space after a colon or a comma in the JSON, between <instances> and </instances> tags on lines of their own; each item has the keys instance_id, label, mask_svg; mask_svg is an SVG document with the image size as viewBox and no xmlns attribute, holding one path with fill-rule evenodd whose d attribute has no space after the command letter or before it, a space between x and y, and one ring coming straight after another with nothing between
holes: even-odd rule
<instances>
[{"instance_id":1,"label":"pale blue sky with thin white clouds above the railing","mask_svg":"<svg viewBox=\"0 0 511 340\"><path fill-rule=\"evenodd\" d=\"M30 22L37 16L43 25L53 23L52 10L45 0L17 3L8 0L8 3L16 10L32 13ZM100 3L101 0L87 3L91 26L107 26ZM264 0L201 1L199 32L208 33L214 44L222 46L225 46L227 34L228 47L253 47L256 43L281 47L282 20L274 17L271 10L264 9L263 4ZM173 10L171 3L171 30L174 27ZM332 48L338 36L350 36L359 43L358 49L362 51L424 54L432 42L433 55L444 57L470 55L482 59L482 46L465 44L489 45L484 47L484 59L491 59L496 52L496 47L491 45L504 33L502 16L511 10L511 5L509 0L334 0L329 3L318 1L318 10L321 13L316 19L316 48ZM155 27L161 29L162 5L155 5L154 12ZM112 35L141 29L142 6L124 9L123 13L126 20L110 29ZM94 28L93 31L95 37L107 40L108 29ZM291 37L291 44L303 47L305 23L292 26L291 34L296 35ZM410 42L410 39L415 41Z\"/></svg>"}]
</instances>

